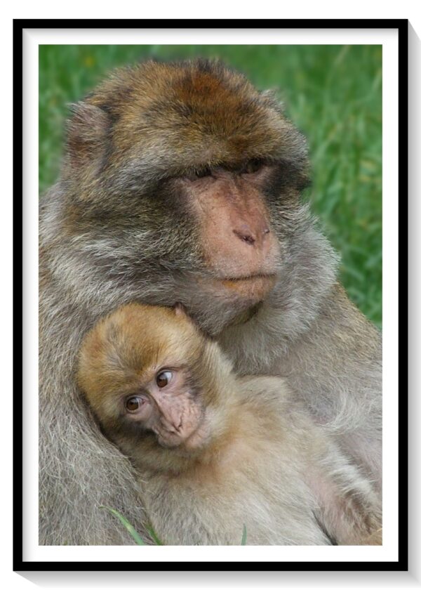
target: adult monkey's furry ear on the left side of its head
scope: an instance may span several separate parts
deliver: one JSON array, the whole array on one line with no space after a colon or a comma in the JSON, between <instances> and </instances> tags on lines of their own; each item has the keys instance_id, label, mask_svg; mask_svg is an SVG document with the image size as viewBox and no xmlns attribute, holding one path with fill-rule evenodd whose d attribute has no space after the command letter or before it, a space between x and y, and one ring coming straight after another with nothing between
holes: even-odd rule
<instances>
[{"instance_id":1,"label":"adult monkey's furry ear on the left side of its head","mask_svg":"<svg viewBox=\"0 0 421 590\"><path fill-rule=\"evenodd\" d=\"M107 149L110 119L105 110L75 103L67 123L67 165L86 180L98 171Z\"/></svg>"}]
</instances>

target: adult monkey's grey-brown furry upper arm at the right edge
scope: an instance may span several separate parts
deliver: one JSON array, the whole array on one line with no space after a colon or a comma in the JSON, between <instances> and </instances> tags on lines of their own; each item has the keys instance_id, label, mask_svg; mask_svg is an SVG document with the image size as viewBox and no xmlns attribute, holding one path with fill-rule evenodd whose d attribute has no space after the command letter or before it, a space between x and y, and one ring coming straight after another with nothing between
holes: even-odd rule
<instances>
[{"instance_id":1,"label":"adult monkey's grey-brown furry upper arm at the right edge","mask_svg":"<svg viewBox=\"0 0 421 590\"><path fill-rule=\"evenodd\" d=\"M382 485L382 346L339 284L288 355L288 384L347 457ZM302 369L305 370L302 370ZM300 370L301 369L301 370Z\"/></svg>"}]
</instances>

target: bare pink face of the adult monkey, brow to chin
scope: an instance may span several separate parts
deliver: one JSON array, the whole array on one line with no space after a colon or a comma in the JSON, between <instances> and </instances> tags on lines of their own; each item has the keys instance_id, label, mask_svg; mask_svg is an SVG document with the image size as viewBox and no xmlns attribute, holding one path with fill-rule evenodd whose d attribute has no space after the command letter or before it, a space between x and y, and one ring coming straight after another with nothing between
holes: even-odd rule
<instances>
[{"instance_id":1,"label":"bare pink face of the adult monkey, brow to chin","mask_svg":"<svg viewBox=\"0 0 421 590\"><path fill-rule=\"evenodd\" d=\"M269 166L250 161L236 170L208 168L178 181L196 221L210 288L257 303L274 286L279 243L262 197ZM204 282L204 281L203 281Z\"/></svg>"}]
</instances>

